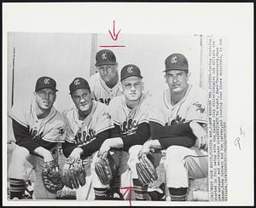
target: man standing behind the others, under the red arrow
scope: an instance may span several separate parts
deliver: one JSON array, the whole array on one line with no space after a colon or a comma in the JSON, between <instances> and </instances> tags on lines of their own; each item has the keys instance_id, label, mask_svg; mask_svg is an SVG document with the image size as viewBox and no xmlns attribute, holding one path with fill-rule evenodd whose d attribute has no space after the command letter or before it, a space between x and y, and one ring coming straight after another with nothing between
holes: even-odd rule
<instances>
[{"instance_id":1,"label":"man standing behind the others, under the red arrow","mask_svg":"<svg viewBox=\"0 0 256 208\"><path fill-rule=\"evenodd\" d=\"M102 49L96 53L97 73L90 78L93 98L108 105L113 97L121 95L119 90L118 63L113 51Z\"/></svg>"}]
</instances>

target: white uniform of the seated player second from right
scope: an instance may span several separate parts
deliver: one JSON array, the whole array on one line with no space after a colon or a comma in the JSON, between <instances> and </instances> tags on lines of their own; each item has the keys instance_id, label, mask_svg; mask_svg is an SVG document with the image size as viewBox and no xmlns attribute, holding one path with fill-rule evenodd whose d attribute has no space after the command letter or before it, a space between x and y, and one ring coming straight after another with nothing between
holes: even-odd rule
<instances>
[{"instance_id":1,"label":"white uniform of the seated player second from right","mask_svg":"<svg viewBox=\"0 0 256 208\"><path fill-rule=\"evenodd\" d=\"M142 96L137 107L133 109L127 107L124 95L117 96L109 103L108 109L113 124L120 127L122 136L129 136L136 133L138 124L148 123L148 99L146 95ZM119 166L120 187L131 187L132 179L137 178L135 165L137 154L142 147L142 145L134 145L129 148L128 153L125 151L114 151L113 158L116 165ZM94 168L94 163L92 168ZM96 188L109 187L109 185L103 185L96 175L93 177L93 184ZM121 191L124 194L125 189ZM129 194L124 196L124 198L128 197Z\"/></svg>"}]
</instances>

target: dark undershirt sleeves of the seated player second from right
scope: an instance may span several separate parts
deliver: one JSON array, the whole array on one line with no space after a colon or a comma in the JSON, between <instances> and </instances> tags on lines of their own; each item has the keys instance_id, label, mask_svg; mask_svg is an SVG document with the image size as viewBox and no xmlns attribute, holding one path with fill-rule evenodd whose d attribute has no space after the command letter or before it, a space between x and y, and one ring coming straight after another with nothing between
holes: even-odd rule
<instances>
[{"instance_id":1,"label":"dark undershirt sleeves of the seated player second from right","mask_svg":"<svg viewBox=\"0 0 256 208\"><path fill-rule=\"evenodd\" d=\"M128 136L121 136L120 127L114 124L113 130L111 130L111 137L120 137L124 142L123 149L128 152L129 148L134 145L143 145L150 136L149 125L147 123L138 124L136 133Z\"/></svg>"}]
</instances>

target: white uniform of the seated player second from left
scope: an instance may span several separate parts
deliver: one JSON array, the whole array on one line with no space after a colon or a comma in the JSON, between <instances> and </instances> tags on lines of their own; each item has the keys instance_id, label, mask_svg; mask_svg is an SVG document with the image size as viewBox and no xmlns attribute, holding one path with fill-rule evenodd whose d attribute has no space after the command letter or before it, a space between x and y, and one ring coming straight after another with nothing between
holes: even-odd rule
<instances>
[{"instance_id":1,"label":"white uniform of the seated player second from left","mask_svg":"<svg viewBox=\"0 0 256 208\"><path fill-rule=\"evenodd\" d=\"M108 107L98 101L93 101L90 114L79 120L77 107L73 107L66 114L67 117L67 142L75 143L77 147L88 144L96 139L96 135L104 130L113 128L113 122L108 114ZM95 153L93 153L94 155ZM95 194L91 183L90 165L93 155L83 160L86 170L86 183L76 191L77 199L94 199Z\"/></svg>"}]
</instances>

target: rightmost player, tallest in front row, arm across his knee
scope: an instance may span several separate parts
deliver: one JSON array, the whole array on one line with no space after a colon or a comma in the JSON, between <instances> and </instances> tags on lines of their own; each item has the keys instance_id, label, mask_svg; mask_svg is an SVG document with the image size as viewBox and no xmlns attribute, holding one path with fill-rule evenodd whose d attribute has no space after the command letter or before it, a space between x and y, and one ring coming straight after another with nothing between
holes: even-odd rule
<instances>
[{"instance_id":1,"label":"rightmost player, tallest in front row, arm across his knee","mask_svg":"<svg viewBox=\"0 0 256 208\"><path fill-rule=\"evenodd\" d=\"M166 149L166 187L171 200L182 201L189 178L207 176L207 100L202 89L188 84L184 55L169 55L164 72L168 89L152 97L148 110L152 140L144 143L142 152Z\"/></svg>"}]
</instances>

